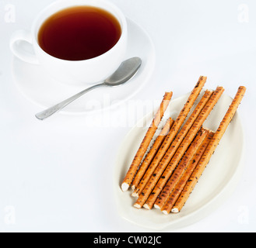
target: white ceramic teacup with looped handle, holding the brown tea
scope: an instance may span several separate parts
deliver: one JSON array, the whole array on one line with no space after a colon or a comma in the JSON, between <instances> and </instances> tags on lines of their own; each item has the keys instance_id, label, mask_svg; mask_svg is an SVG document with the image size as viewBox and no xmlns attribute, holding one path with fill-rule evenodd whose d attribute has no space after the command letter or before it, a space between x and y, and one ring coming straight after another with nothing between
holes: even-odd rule
<instances>
[{"instance_id":1,"label":"white ceramic teacup with looped handle, holding the brown tea","mask_svg":"<svg viewBox=\"0 0 256 248\"><path fill-rule=\"evenodd\" d=\"M68 7L86 5L107 10L121 24L121 38L107 53L89 60L61 60L44 52L38 44L38 32L44 21L56 12ZM18 30L13 33L10 47L12 53L19 59L40 64L52 77L68 84L94 84L106 79L124 60L127 47L128 30L124 14L115 5L105 0L61 0L44 9L33 22L32 31ZM30 43L34 53L29 53L23 42Z\"/></svg>"}]
</instances>

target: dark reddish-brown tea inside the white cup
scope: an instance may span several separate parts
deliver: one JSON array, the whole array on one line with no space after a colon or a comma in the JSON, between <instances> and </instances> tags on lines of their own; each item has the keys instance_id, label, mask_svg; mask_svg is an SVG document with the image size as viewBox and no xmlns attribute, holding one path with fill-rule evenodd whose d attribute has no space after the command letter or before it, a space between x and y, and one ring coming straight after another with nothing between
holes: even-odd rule
<instances>
[{"instance_id":1,"label":"dark reddish-brown tea inside the white cup","mask_svg":"<svg viewBox=\"0 0 256 248\"><path fill-rule=\"evenodd\" d=\"M56 12L40 27L38 43L53 57L88 60L106 53L121 37L121 25L110 12L77 6Z\"/></svg>"}]
</instances>

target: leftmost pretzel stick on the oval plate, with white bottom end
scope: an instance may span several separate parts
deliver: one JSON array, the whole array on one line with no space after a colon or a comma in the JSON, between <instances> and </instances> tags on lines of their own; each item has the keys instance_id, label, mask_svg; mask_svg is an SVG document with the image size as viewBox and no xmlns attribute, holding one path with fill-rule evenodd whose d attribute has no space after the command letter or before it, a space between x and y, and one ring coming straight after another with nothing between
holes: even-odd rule
<instances>
[{"instance_id":1,"label":"leftmost pretzel stick on the oval plate, with white bottom end","mask_svg":"<svg viewBox=\"0 0 256 248\"><path fill-rule=\"evenodd\" d=\"M160 105L158 112L153 119L151 126L149 127L146 136L144 137L141 145L139 146L139 150L135 155L134 160L132 161L132 165L130 166L126 176L124 177L124 181L121 184L122 191L128 191L128 188L132 184L132 180L135 177L135 174L138 170L141 161L148 150L149 144L153 139L154 134L156 133L157 127L160 125L161 119L163 118L164 112L167 110L168 105L170 104L170 99L173 96L173 92L167 92L164 97L163 101Z\"/></svg>"}]
</instances>

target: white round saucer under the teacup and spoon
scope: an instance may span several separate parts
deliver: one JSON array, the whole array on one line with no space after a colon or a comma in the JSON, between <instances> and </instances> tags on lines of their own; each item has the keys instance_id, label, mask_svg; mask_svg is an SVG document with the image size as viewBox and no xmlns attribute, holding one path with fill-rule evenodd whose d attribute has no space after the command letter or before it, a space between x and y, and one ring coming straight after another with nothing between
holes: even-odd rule
<instances>
[{"instance_id":1,"label":"white round saucer under the teacup and spoon","mask_svg":"<svg viewBox=\"0 0 256 248\"><path fill-rule=\"evenodd\" d=\"M129 19L128 34L128 51L124 59L142 58L142 67L138 74L120 87L98 88L89 92L68 105L61 113L82 114L107 109L132 98L145 86L155 67L156 55L153 41L141 26ZM13 58L12 73L19 90L30 102L39 106L39 112L88 88L87 86L70 86L54 81L42 67L26 64L16 57Z\"/></svg>"}]
</instances>

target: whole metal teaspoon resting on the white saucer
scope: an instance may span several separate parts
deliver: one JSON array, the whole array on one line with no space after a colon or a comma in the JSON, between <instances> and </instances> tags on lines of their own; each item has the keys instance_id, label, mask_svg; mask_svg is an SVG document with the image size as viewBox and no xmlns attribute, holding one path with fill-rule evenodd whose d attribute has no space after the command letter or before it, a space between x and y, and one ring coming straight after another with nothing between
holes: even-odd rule
<instances>
[{"instance_id":1,"label":"whole metal teaspoon resting on the white saucer","mask_svg":"<svg viewBox=\"0 0 256 248\"><path fill-rule=\"evenodd\" d=\"M92 91L95 88L114 87L126 83L136 74L141 65L142 60L139 57L133 57L131 59L125 60L117 69L117 71L115 71L114 74L112 74L105 81L103 81L103 83L93 85L93 87L87 88L86 90L79 92L78 94L72 96L71 98L68 98L67 100L59 103L58 105L54 105L53 107L48 108L43 112L37 113L37 119L47 119L55 112L58 112L62 108L65 108L67 105L74 102L77 98L80 98L82 95L85 95L87 92Z\"/></svg>"}]
</instances>

